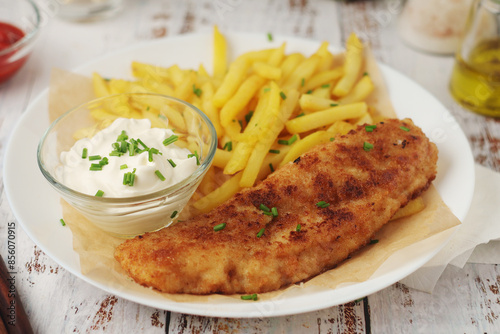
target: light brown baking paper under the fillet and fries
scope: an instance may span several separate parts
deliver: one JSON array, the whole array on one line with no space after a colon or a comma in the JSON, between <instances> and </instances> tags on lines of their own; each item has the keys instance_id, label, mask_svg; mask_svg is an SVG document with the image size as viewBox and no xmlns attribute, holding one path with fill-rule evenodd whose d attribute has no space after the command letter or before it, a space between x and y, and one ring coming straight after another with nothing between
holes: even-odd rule
<instances>
[{"instance_id":1,"label":"light brown baking paper under the fillet and fries","mask_svg":"<svg viewBox=\"0 0 500 334\"><path fill-rule=\"evenodd\" d=\"M365 70L369 73L376 87L367 102L375 107L382 116L395 117L396 114L389 100L387 87L379 68L370 50L367 49L366 52ZM342 61L342 56L337 57L337 59ZM75 87L78 88L74 89ZM80 95L82 90L85 93ZM51 119L55 119L63 111L91 98L89 97L92 95L91 92L89 78L55 70L52 73L49 101ZM420 242L434 242L434 245L441 245L451 236L460 221L451 213L433 186L426 191L423 198L426 208L411 217L386 224L375 236L378 243L364 247L335 269L326 271L305 283L260 294L259 300L282 300L285 296L300 291L297 289L308 288L312 289L311 291L318 288L335 289L362 282L373 277L377 270L383 274L384 262L402 249L418 246ZM228 300L228 298L240 299L239 295L173 295L139 286L127 277L113 257L115 247L122 243L123 239L101 231L63 200L61 200L61 204L63 217L73 234L73 248L80 257L81 272L84 275L101 281L105 280L108 285L122 290L139 291L145 295L154 293L176 302L213 303L224 299Z\"/></svg>"}]
</instances>

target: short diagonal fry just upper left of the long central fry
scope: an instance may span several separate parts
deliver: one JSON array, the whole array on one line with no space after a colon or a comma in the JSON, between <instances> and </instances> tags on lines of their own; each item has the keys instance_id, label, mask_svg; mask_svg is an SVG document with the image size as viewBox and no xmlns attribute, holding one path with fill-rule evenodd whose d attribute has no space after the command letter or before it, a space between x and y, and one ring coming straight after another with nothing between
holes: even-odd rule
<instances>
[{"instance_id":1,"label":"short diagonal fry just upper left of the long central fry","mask_svg":"<svg viewBox=\"0 0 500 334\"><path fill-rule=\"evenodd\" d=\"M259 75L252 75L241 84L236 93L220 110L220 122L222 126L229 126L265 82L265 78Z\"/></svg>"}]
</instances>

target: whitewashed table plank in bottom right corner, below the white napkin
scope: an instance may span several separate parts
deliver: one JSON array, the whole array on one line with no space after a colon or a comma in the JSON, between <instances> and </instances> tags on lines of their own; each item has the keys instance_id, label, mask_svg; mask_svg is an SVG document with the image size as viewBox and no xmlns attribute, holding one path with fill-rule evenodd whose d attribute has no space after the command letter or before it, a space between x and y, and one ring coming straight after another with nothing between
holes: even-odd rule
<instances>
[{"instance_id":1,"label":"whitewashed table plank in bottom right corner, below the white napkin","mask_svg":"<svg viewBox=\"0 0 500 334\"><path fill-rule=\"evenodd\" d=\"M372 333L495 333L499 285L500 267L480 264L449 266L433 294L396 284L369 297Z\"/></svg>"}]
</instances>

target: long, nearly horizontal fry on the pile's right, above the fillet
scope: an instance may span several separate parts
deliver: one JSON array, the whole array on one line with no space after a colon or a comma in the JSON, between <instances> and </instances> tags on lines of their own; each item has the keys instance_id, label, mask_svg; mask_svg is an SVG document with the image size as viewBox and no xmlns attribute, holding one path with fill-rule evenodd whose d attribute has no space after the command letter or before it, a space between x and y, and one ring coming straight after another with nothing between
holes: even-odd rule
<instances>
[{"instance_id":1,"label":"long, nearly horizontal fry on the pile's right, above the fillet","mask_svg":"<svg viewBox=\"0 0 500 334\"><path fill-rule=\"evenodd\" d=\"M332 124L335 121L361 117L366 111L367 105L364 102L340 105L291 119L286 122L285 126L289 133L301 133Z\"/></svg>"}]
</instances>

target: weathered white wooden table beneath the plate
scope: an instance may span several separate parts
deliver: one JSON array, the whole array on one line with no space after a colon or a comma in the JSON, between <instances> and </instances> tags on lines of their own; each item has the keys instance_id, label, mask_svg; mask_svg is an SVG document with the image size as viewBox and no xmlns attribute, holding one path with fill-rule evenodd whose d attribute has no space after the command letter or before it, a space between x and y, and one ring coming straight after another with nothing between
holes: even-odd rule
<instances>
[{"instance_id":1,"label":"weathered white wooden table beneath the plate","mask_svg":"<svg viewBox=\"0 0 500 334\"><path fill-rule=\"evenodd\" d=\"M43 28L33 57L0 86L0 166L9 135L27 105L48 86L50 70L67 70L130 44L210 31L299 36L344 45L351 31L368 40L376 58L435 95L466 133L476 162L500 171L500 120L459 107L448 93L452 57L418 53L396 30L401 0L125 0L113 18L89 23L58 19L57 1L40 0ZM1 167L0 167L1 168ZM3 189L3 182L0 180ZM394 284L360 302L312 313L261 319L205 318L135 304L76 278L45 255L0 199L0 253L7 225L16 225L16 289L37 333L494 333L500 328L500 268L448 267L433 294Z\"/></svg>"}]
</instances>

